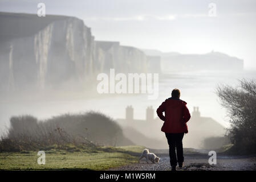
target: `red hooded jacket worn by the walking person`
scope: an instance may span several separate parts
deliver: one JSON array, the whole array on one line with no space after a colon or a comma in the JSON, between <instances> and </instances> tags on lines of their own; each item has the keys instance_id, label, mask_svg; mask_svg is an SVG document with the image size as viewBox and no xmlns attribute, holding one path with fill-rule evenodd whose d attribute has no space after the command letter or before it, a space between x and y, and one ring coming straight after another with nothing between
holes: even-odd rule
<instances>
[{"instance_id":1,"label":"red hooded jacket worn by the walking person","mask_svg":"<svg viewBox=\"0 0 256 182\"><path fill-rule=\"evenodd\" d=\"M162 115L163 112L165 116ZM186 122L190 119L190 113L185 101L170 97L162 102L156 113L164 121L161 131L165 133L188 133Z\"/></svg>"}]
</instances>

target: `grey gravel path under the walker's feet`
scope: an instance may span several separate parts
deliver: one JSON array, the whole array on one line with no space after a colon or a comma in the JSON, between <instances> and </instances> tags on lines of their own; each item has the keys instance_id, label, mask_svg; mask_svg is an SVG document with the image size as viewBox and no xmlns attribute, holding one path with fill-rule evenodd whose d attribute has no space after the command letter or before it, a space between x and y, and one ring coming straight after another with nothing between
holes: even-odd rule
<instances>
[{"instance_id":1,"label":"grey gravel path under the walker's feet","mask_svg":"<svg viewBox=\"0 0 256 182\"><path fill-rule=\"evenodd\" d=\"M156 154L157 155L157 154ZM169 155L158 154L160 163L148 164L145 159L141 163L129 164L117 168L111 168L109 171L169 171ZM187 154L184 155L185 167L179 171L230 171L230 170L256 170L256 156L225 156L217 155L217 164L210 165L208 154Z\"/></svg>"}]
</instances>

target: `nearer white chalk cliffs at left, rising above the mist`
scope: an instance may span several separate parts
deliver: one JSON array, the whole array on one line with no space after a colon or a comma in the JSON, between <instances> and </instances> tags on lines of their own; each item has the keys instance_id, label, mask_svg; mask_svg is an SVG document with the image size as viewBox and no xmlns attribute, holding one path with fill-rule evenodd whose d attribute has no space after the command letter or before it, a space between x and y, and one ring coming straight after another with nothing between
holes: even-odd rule
<instances>
[{"instance_id":1,"label":"nearer white chalk cliffs at left, rising above the mist","mask_svg":"<svg viewBox=\"0 0 256 182\"><path fill-rule=\"evenodd\" d=\"M0 31L1 37L9 36L0 42L1 90L58 88L68 81L83 84L110 68L124 73L147 71L143 52L118 42L95 42L91 29L78 18L33 16L28 21L28 17L19 17L26 24L22 28L4 17L11 30L22 30L11 36Z\"/></svg>"}]
</instances>

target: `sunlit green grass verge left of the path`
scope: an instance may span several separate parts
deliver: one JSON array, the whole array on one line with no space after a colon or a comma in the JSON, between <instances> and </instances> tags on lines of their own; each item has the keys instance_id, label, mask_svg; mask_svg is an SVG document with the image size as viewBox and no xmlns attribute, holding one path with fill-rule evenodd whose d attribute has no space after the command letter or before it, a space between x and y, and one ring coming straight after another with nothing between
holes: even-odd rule
<instances>
[{"instance_id":1,"label":"sunlit green grass verge left of the path","mask_svg":"<svg viewBox=\"0 0 256 182\"><path fill-rule=\"evenodd\" d=\"M37 163L37 151L0 152L0 170L105 170L136 163L143 148L52 146L45 150L45 165Z\"/></svg>"}]
</instances>

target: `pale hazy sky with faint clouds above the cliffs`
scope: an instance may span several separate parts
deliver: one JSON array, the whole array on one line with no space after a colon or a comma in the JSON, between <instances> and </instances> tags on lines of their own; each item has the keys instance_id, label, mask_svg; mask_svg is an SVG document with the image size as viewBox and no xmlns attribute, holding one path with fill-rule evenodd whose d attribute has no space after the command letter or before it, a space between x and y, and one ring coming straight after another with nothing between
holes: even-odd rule
<instances>
[{"instance_id":1,"label":"pale hazy sky with faint clouds above the cliffs","mask_svg":"<svg viewBox=\"0 0 256 182\"><path fill-rule=\"evenodd\" d=\"M245 69L256 69L255 0L0 0L0 11L36 14L40 2L46 16L83 19L96 40L163 52L214 50L243 59Z\"/></svg>"}]
</instances>

